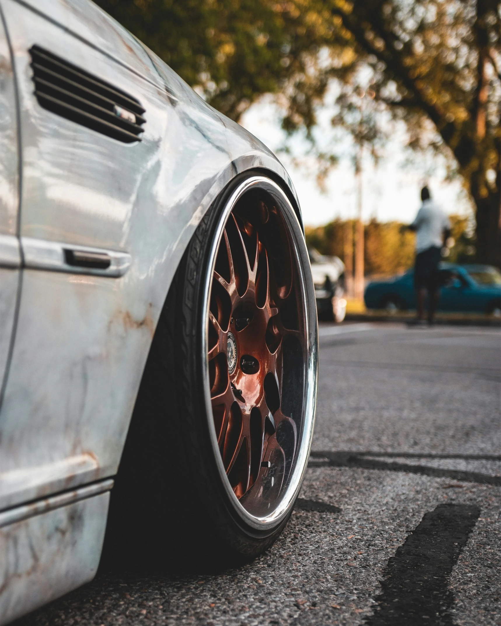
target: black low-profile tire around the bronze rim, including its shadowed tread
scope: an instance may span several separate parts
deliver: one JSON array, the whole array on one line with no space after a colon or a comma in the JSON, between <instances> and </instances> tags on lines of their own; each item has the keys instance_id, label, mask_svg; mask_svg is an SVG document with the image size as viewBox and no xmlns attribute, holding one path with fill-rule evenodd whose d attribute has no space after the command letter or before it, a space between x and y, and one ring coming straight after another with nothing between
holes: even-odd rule
<instances>
[{"instance_id":1,"label":"black low-profile tire around the bronze rim, including its shadowed tread","mask_svg":"<svg viewBox=\"0 0 501 626\"><path fill-rule=\"evenodd\" d=\"M202 219L168 292L111 493L106 567L229 567L272 545L292 513L305 467L299 468L301 477L287 510L276 523L256 528L235 506L210 444L212 416L205 404L200 357L204 285L224 208L248 179L248 174L236 177ZM307 259L306 247L304 254ZM311 294L314 298L312 284ZM316 326L312 339L316 368ZM311 433L306 436L309 451ZM302 464L306 462L307 454Z\"/></svg>"}]
</instances>

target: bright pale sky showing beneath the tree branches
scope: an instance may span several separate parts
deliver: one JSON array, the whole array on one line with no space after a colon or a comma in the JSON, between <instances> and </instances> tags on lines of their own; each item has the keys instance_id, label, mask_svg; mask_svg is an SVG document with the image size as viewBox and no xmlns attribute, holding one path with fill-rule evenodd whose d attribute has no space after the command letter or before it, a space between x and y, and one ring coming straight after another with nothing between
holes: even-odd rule
<instances>
[{"instance_id":1,"label":"bright pale sky showing beneath the tree branches","mask_svg":"<svg viewBox=\"0 0 501 626\"><path fill-rule=\"evenodd\" d=\"M322 117L330 119L328 110L323 113L320 120ZM353 152L353 141L347 134L341 138L338 136L334 152L339 155L339 162L329 173L323 193L316 182L315 163L306 154L308 145L304 138L296 136L291 142L292 153L296 160L299 157L300 163L294 163L290 155L278 151L284 144L285 135L280 127L279 110L271 96L264 96L250 106L240 124L274 151L283 163L296 187L305 225L322 225L336 217L356 217L356 180L349 156ZM329 137L332 134L328 127L320 128L320 132ZM416 154L405 148L405 130L403 126L396 127L383 148L377 167L368 154L363 160L363 220L412 222L420 206L420 189L425 182L432 198L445 212L472 215L460 179L447 181L446 177L445 158L431 153Z\"/></svg>"}]
</instances>

